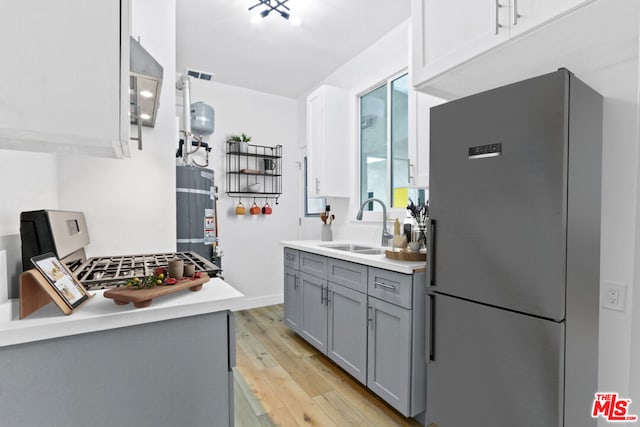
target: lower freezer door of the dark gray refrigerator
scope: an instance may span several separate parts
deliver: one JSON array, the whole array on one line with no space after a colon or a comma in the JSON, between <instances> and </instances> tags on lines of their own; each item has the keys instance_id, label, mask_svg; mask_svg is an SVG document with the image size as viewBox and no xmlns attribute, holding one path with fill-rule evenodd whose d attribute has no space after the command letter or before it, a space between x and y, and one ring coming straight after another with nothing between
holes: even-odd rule
<instances>
[{"instance_id":1,"label":"lower freezer door of the dark gray refrigerator","mask_svg":"<svg viewBox=\"0 0 640 427\"><path fill-rule=\"evenodd\" d=\"M427 423L563 425L563 322L430 298Z\"/></svg>"}]
</instances>

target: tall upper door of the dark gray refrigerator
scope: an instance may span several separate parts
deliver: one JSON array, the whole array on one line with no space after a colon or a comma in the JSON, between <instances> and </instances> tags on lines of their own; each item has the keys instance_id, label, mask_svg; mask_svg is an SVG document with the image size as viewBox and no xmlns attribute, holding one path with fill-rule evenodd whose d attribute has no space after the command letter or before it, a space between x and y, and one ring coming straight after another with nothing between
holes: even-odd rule
<instances>
[{"instance_id":1,"label":"tall upper door of the dark gray refrigerator","mask_svg":"<svg viewBox=\"0 0 640 427\"><path fill-rule=\"evenodd\" d=\"M565 79L559 71L432 108L434 290L564 318Z\"/></svg>"}]
</instances>

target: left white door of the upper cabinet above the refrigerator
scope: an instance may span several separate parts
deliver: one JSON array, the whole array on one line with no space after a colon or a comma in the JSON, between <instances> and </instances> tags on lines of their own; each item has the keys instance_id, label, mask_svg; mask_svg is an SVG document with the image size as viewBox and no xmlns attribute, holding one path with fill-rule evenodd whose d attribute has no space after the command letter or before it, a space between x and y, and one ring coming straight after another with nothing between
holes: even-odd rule
<instances>
[{"instance_id":1,"label":"left white door of the upper cabinet above the refrigerator","mask_svg":"<svg viewBox=\"0 0 640 427\"><path fill-rule=\"evenodd\" d=\"M509 38L509 0L412 0L413 84Z\"/></svg>"}]
</instances>

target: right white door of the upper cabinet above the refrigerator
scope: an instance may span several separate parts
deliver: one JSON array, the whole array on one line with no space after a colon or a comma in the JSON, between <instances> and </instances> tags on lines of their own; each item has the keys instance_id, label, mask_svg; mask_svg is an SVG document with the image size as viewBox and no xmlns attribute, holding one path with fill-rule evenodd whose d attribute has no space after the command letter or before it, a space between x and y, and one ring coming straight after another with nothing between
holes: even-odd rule
<instances>
[{"instance_id":1,"label":"right white door of the upper cabinet above the refrigerator","mask_svg":"<svg viewBox=\"0 0 640 427\"><path fill-rule=\"evenodd\" d=\"M510 35L514 37L590 1L593 0L511 0Z\"/></svg>"}]
</instances>

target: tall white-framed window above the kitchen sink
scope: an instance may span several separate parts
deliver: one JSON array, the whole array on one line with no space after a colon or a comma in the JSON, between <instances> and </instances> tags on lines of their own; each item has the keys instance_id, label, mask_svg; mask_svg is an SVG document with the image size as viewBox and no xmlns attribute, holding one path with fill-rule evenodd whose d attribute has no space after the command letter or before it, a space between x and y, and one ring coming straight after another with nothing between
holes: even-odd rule
<instances>
[{"instance_id":1,"label":"tall white-framed window above the kitchen sink","mask_svg":"<svg viewBox=\"0 0 640 427\"><path fill-rule=\"evenodd\" d=\"M409 76L394 76L360 96L360 203L375 197L390 208L406 208L409 197ZM370 203L365 210L381 210Z\"/></svg>"}]
</instances>

